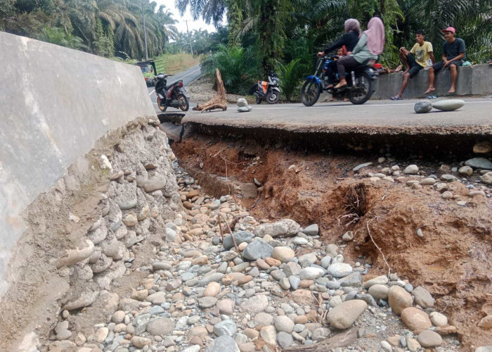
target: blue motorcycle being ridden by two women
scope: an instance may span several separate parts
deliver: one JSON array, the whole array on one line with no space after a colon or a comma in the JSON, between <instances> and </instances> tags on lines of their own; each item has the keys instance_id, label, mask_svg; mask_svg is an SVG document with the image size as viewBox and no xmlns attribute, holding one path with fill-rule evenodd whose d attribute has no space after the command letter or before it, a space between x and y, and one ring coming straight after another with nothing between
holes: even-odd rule
<instances>
[{"instance_id":1,"label":"blue motorcycle being ridden by two women","mask_svg":"<svg viewBox=\"0 0 492 352\"><path fill-rule=\"evenodd\" d=\"M335 61L338 56L323 56L316 63L314 75L306 77L306 82L302 85L301 101L305 106L313 106L323 90L332 94L335 99L348 98L353 104L363 104L370 99L374 93L374 80L378 73L373 69L376 60L369 60L361 63L356 68L347 72L347 87L340 90L328 86L328 63ZM339 82L339 75L334 86Z\"/></svg>"}]
</instances>

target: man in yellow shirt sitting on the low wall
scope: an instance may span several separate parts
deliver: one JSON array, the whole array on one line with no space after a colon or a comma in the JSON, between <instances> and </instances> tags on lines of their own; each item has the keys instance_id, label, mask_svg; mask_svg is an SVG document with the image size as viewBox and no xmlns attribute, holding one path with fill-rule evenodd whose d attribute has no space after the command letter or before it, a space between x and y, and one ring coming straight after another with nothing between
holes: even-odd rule
<instances>
[{"instance_id":1,"label":"man in yellow shirt sitting on the low wall","mask_svg":"<svg viewBox=\"0 0 492 352\"><path fill-rule=\"evenodd\" d=\"M408 84L408 78L413 78L419 73L422 68L427 67L429 60L429 67L434 65L436 59L434 58L434 51L432 50L432 44L425 42L425 31L417 30L415 33L415 45L408 51L405 48L400 48L401 61L406 65L406 70L403 72L403 84L401 84L401 90L398 95L391 96L391 100L403 100L401 96Z\"/></svg>"}]
</instances>

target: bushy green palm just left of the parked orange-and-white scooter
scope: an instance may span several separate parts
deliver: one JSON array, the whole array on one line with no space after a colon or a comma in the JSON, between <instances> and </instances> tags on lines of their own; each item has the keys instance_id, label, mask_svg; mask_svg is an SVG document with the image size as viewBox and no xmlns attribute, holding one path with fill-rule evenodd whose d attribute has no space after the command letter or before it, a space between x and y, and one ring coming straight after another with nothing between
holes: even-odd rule
<instances>
[{"instance_id":1,"label":"bushy green palm just left of the parked orange-and-white scooter","mask_svg":"<svg viewBox=\"0 0 492 352\"><path fill-rule=\"evenodd\" d=\"M214 54L202 61L202 72L215 77L219 68L227 92L245 94L259 77L259 63L252 47L219 46Z\"/></svg>"}]
</instances>

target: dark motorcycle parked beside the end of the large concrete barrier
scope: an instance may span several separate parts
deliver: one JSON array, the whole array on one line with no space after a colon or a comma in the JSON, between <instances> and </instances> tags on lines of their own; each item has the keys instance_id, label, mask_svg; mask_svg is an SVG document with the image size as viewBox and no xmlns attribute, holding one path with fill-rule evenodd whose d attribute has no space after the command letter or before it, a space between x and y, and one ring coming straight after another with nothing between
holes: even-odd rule
<instances>
[{"instance_id":1,"label":"dark motorcycle parked beside the end of the large concrete barrier","mask_svg":"<svg viewBox=\"0 0 492 352\"><path fill-rule=\"evenodd\" d=\"M167 76L162 73L155 76L157 80L155 84L157 106L159 106L160 111L166 111L168 106L171 106L171 108L180 108L182 111L188 111L190 103L188 103L183 81L176 81L167 87Z\"/></svg>"}]
</instances>

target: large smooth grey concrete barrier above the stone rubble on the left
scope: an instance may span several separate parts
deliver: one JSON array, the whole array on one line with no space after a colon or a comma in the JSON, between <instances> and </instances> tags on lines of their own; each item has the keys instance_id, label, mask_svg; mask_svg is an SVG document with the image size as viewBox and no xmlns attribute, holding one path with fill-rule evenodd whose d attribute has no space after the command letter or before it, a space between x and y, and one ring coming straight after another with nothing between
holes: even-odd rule
<instances>
[{"instance_id":1,"label":"large smooth grey concrete barrier above the stone rubble on the left","mask_svg":"<svg viewBox=\"0 0 492 352\"><path fill-rule=\"evenodd\" d=\"M157 119L141 70L0 32L0 298L22 213L110 130Z\"/></svg>"}]
</instances>

